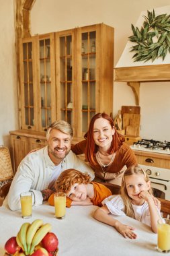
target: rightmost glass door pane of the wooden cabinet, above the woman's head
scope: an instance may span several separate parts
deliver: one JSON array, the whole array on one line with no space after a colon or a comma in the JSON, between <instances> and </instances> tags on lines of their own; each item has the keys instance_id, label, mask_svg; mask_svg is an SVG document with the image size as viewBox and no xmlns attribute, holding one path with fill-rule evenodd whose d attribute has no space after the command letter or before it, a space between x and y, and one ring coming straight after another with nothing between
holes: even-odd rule
<instances>
[{"instance_id":1,"label":"rightmost glass door pane of the wooden cabinet, above the woman's head","mask_svg":"<svg viewBox=\"0 0 170 256\"><path fill-rule=\"evenodd\" d=\"M85 133L89 121L95 115L95 66L96 32L81 34L81 74L82 74L82 131Z\"/></svg>"}]
</instances>

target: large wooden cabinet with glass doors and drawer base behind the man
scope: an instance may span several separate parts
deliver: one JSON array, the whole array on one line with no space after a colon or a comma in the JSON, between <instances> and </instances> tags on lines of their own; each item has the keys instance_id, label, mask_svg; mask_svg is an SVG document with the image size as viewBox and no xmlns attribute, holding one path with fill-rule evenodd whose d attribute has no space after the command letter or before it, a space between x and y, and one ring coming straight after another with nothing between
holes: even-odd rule
<instances>
[{"instance_id":1,"label":"large wooden cabinet with glass doors and drawer base behind the man","mask_svg":"<svg viewBox=\"0 0 170 256\"><path fill-rule=\"evenodd\" d=\"M11 131L13 170L46 145L47 127L68 121L80 141L93 115L113 111L114 28L96 24L19 40L20 130Z\"/></svg>"}]
</instances>

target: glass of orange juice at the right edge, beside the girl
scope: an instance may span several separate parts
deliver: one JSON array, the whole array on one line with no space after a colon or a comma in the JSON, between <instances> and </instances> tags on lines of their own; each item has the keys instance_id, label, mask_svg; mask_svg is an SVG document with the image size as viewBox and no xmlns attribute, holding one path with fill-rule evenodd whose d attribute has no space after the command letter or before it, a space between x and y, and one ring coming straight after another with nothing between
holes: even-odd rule
<instances>
[{"instance_id":1,"label":"glass of orange juice at the right edge, beside the girl","mask_svg":"<svg viewBox=\"0 0 170 256\"><path fill-rule=\"evenodd\" d=\"M158 220L158 243L157 250L161 253L170 252L170 220L159 219Z\"/></svg>"}]
</instances>

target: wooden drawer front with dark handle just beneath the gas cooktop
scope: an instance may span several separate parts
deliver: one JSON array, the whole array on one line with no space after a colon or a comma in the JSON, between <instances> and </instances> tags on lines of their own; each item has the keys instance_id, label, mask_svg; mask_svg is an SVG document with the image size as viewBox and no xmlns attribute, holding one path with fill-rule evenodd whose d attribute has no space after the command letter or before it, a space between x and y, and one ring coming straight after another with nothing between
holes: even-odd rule
<instances>
[{"instance_id":1,"label":"wooden drawer front with dark handle just beneath the gas cooktop","mask_svg":"<svg viewBox=\"0 0 170 256\"><path fill-rule=\"evenodd\" d=\"M170 169L170 155L134 150L139 164Z\"/></svg>"}]
</instances>

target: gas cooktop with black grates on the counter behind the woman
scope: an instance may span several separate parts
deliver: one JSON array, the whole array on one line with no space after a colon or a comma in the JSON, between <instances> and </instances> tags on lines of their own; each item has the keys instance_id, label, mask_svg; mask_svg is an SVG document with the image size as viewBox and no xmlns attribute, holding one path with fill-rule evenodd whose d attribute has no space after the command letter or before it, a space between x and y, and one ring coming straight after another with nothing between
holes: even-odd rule
<instances>
[{"instance_id":1,"label":"gas cooktop with black grates on the counter behind the woman","mask_svg":"<svg viewBox=\"0 0 170 256\"><path fill-rule=\"evenodd\" d=\"M155 152L159 154L170 155L170 142L158 141L153 139L142 139L138 142L134 142L134 145L130 146L132 150L141 150L146 152Z\"/></svg>"}]
</instances>

